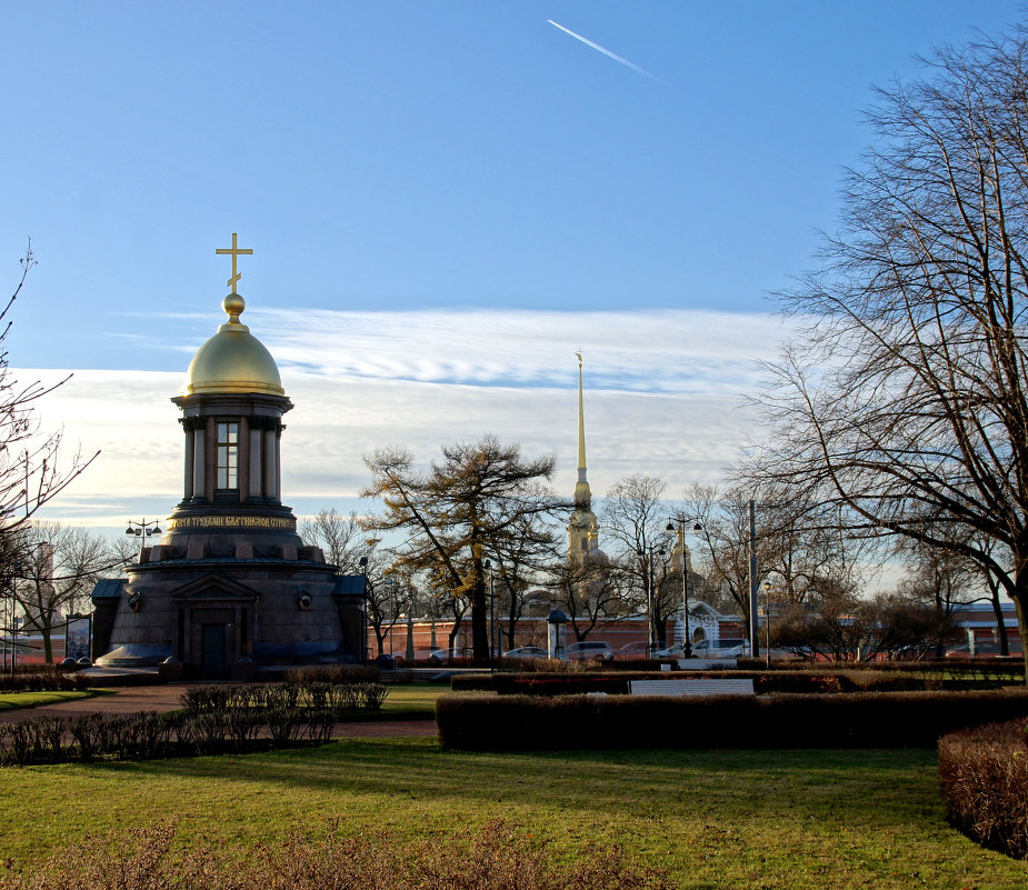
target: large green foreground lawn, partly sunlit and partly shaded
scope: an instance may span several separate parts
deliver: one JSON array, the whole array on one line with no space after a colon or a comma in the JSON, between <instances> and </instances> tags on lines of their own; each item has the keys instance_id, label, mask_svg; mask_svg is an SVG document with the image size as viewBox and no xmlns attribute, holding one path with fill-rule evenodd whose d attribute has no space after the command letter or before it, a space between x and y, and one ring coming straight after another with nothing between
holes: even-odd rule
<instances>
[{"instance_id":1,"label":"large green foreground lawn, partly sunlit and partly shaded","mask_svg":"<svg viewBox=\"0 0 1028 890\"><path fill-rule=\"evenodd\" d=\"M930 751L466 753L351 739L247 757L0 772L0 858L172 817L247 849L293 827L447 836L502 817L561 858L619 842L683 890L1021 890L1028 864L945 821Z\"/></svg>"}]
</instances>

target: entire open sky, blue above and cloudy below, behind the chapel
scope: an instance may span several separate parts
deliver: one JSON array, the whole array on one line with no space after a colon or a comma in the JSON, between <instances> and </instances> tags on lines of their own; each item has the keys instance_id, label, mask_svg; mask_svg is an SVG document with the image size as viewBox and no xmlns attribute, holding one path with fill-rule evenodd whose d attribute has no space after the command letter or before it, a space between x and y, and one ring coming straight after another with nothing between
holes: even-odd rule
<instances>
[{"instance_id":1,"label":"entire open sky, blue above and cloudy below, behind the chapel","mask_svg":"<svg viewBox=\"0 0 1028 890\"><path fill-rule=\"evenodd\" d=\"M220 321L233 231L243 320L298 404L298 509L352 498L369 447L487 429L568 482L577 348L595 489L715 478L755 432L737 406L782 333L767 296L816 263L872 139L871 87L1020 11L4 4L0 247L11 280L27 237L40 260L11 363L80 371L43 419L106 454L57 514L180 496L167 399Z\"/></svg>"}]
</instances>

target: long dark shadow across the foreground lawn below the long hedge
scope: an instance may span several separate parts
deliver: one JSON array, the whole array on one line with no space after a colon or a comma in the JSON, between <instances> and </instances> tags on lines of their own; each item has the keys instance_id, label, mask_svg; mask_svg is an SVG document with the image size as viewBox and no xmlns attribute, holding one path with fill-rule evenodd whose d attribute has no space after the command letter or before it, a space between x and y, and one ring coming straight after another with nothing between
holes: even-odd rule
<instances>
[{"instance_id":1,"label":"long dark shadow across the foreground lawn below the long hedge","mask_svg":"<svg viewBox=\"0 0 1028 890\"><path fill-rule=\"evenodd\" d=\"M348 739L321 748L247 756L80 767L121 780L218 780L277 793L602 810L640 807L721 820L759 810L796 819L848 809L887 828L938 809L935 752L902 750L642 750L479 753L433 739Z\"/></svg>"}]
</instances>

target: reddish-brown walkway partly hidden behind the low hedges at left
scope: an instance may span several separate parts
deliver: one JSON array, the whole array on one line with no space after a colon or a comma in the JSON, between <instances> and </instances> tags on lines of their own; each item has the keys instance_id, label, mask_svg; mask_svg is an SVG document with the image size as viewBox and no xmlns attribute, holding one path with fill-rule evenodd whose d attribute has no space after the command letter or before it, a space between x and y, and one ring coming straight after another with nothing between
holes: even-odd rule
<instances>
[{"instance_id":1,"label":"reddish-brown walkway partly hidden behind the low hedges at left","mask_svg":"<svg viewBox=\"0 0 1028 890\"><path fill-rule=\"evenodd\" d=\"M31 717L79 717L84 713L134 713L136 711L176 711L181 708L182 684L123 687L110 694L93 696L36 708L11 708L0 711L0 723ZM421 720L361 720L337 723L332 732L337 739L408 738L435 736L436 721Z\"/></svg>"}]
</instances>

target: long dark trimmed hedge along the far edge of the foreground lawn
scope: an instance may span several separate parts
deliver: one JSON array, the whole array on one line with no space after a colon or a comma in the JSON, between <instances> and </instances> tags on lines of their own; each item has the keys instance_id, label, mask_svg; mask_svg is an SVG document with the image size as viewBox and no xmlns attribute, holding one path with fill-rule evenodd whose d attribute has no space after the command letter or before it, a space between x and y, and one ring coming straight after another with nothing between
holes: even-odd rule
<instances>
[{"instance_id":1,"label":"long dark trimmed hedge along the far edge of the foreground lawn","mask_svg":"<svg viewBox=\"0 0 1028 890\"><path fill-rule=\"evenodd\" d=\"M745 696L442 696L447 748L934 748L1028 716L1028 690Z\"/></svg>"}]
</instances>

